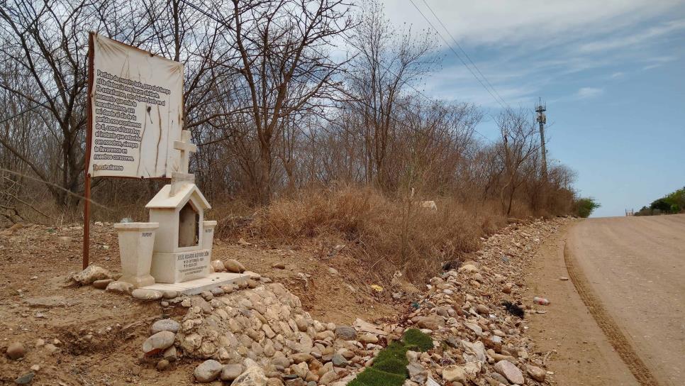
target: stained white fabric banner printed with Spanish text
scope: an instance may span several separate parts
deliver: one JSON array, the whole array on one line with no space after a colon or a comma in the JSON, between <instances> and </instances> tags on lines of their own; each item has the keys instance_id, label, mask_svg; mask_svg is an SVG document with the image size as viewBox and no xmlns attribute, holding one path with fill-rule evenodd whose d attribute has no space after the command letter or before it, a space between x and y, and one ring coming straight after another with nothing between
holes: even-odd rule
<instances>
[{"instance_id":1,"label":"stained white fabric banner printed with Spanish text","mask_svg":"<svg viewBox=\"0 0 685 386\"><path fill-rule=\"evenodd\" d=\"M179 171L183 65L93 33L92 177Z\"/></svg>"}]
</instances>

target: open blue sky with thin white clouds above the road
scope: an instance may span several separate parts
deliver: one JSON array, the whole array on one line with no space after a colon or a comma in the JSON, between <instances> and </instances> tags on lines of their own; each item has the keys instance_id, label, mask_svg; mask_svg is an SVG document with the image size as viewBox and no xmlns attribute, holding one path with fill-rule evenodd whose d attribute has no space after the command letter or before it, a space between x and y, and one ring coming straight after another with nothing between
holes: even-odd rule
<instances>
[{"instance_id":1,"label":"open blue sky with thin white clouds above the road","mask_svg":"<svg viewBox=\"0 0 685 386\"><path fill-rule=\"evenodd\" d=\"M444 59L425 93L482 106L487 138L501 106L533 110L542 98L548 162L577 173L575 189L601 204L593 216L685 187L685 0L412 1L433 27L410 0L383 3L396 26L437 28L446 40L435 37Z\"/></svg>"}]
</instances>

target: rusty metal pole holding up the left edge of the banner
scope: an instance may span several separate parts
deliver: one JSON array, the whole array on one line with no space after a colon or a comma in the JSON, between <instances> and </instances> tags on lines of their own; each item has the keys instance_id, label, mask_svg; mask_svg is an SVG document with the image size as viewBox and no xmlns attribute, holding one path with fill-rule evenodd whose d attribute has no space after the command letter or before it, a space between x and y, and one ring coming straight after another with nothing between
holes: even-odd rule
<instances>
[{"instance_id":1,"label":"rusty metal pole holding up the left edge of the banner","mask_svg":"<svg viewBox=\"0 0 685 386\"><path fill-rule=\"evenodd\" d=\"M84 160L84 204L83 204L83 269L86 269L90 258L90 150L93 133L93 33L88 35L88 96L87 96L87 126L86 126L86 154Z\"/></svg>"}]
</instances>

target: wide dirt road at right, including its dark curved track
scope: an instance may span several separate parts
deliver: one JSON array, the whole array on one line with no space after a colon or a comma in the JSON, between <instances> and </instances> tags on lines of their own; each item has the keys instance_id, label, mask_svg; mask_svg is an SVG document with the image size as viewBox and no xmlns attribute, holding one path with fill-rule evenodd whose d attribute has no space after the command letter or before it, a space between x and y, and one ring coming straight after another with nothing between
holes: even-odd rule
<instances>
[{"instance_id":1,"label":"wide dirt road at right, including its dark curved track","mask_svg":"<svg viewBox=\"0 0 685 386\"><path fill-rule=\"evenodd\" d=\"M569 231L567 264L638 380L648 371L659 385L684 385L685 215L581 221Z\"/></svg>"}]
</instances>

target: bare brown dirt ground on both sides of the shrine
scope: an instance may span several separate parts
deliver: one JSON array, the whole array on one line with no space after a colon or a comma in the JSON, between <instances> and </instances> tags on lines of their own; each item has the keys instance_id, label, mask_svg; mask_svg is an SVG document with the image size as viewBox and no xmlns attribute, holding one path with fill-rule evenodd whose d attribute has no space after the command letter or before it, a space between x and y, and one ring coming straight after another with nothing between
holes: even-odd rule
<instances>
[{"instance_id":1,"label":"bare brown dirt ground on both sides of the shrine","mask_svg":"<svg viewBox=\"0 0 685 386\"><path fill-rule=\"evenodd\" d=\"M0 234L0 385L13 385L33 365L40 370L31 385L193 384L196 363L180 360L159 373L138 355L148 326L165 312L174 315L174 309L92 287L64 287L69 272L81 269L81 250L80 226L26 226ZM408 304L408 298L392 299L394 288L374 292L369 286L382 278L355 264L345 249L330 255L328 246L279 249L235 240L217 240L213 250L215 258L236 258L248 269L282 282L321 321L352 324L357 317L394 318ZM91 227L91 263L120 270L111 224ZM285 268L272 268L274 263ZM403 289L416 291L411 285ZM184 311L179 307L175 312ZM38 339L46 346L39 346ZM26 346L21 360L4 355L13 341Z\"/></svg>"}]
</instances>

